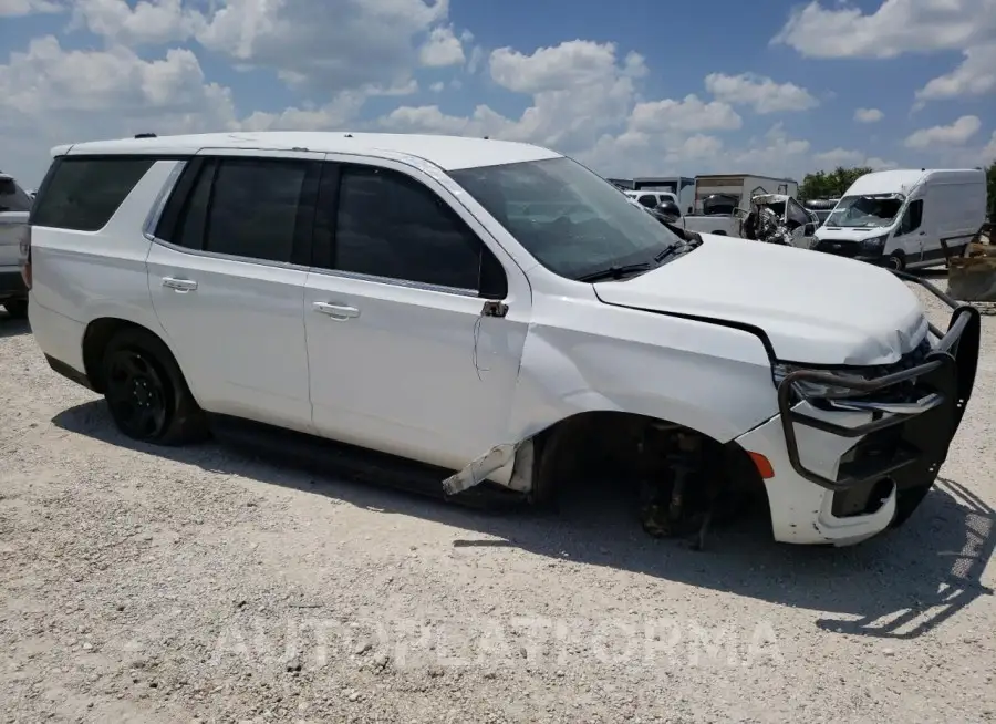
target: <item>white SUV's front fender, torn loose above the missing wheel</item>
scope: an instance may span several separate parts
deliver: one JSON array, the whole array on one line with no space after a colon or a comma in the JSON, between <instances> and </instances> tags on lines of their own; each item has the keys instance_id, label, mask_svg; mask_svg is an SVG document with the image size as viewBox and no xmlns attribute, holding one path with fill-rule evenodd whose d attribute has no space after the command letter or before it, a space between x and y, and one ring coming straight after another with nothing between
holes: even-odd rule
<instances>
[{"instance_id":1,"label":"white SUV's front fender, torn loose above the missing wheel","mask_svg":"<svg viewBox=\"0 0 996 724\"><path fill-rule=\"evenodd\" d=\"M446 495L512 465L505 487L532 490L533 437L589 412L664 420L720 443L777 411L770 363L754 334L703 321L602 304L600 313L547 298L522 351L506 439L443 482Z\"/></svg>"}]
</instances>

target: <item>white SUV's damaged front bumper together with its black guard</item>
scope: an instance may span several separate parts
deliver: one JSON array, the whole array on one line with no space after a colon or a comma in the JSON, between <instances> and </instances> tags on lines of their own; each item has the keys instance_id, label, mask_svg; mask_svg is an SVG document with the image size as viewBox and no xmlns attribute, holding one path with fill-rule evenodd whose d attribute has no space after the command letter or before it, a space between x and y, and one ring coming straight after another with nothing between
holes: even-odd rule
<instances>
[{"instance_id":1,"label":"white SUV's damaged front bumper together with its black guard","mask_svg":"<svg viewBox=\"0 0 996 724\"><path fill-rule=\"evenodd\" d=\"M979 314L928 282L915 281L954 311L946 332L913 366L875 377L798 370L778 386L779 414L741 436L769 457L775 537L848 545L899 525L937 477L975 383ZM837 392L813 395L806 385Z\"/></svg>"}]
</instances>

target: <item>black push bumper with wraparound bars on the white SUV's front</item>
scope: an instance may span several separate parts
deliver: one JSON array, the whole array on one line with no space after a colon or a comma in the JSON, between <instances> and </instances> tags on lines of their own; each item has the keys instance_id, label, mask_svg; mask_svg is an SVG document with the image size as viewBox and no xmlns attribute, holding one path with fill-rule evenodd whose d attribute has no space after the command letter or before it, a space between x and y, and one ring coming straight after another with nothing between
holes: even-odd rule
<instances>
[{"instance_id":1,"label":"black push bumper with wraparound bars on the white SUV's front","mask_svg":"<svg viewBox=\"0 0 996 724\"><path fill-rule=\"evenodd\" d=\"M924 492L930 488L947 457L975 385L981 333L978 310L958 306L919 277L894 273L922 285L954 310L946 332L931 325L931 332L940 340L922 361L873 379L800 370L786 375L778 386L778 410L792 468L807 480L839 494L841 499L855 488L871 495L872 488L882 482L893 484L898 494L911 488ZM841 391L807 396L795 384L800 381L832 385ZM802 401L824 410L871 412L872 420L858 427L844 427L793 410ZM801 462L796 424L841 437L862 438L842 458L837 479L823 477Z\"/></svg>"}]
</instances>

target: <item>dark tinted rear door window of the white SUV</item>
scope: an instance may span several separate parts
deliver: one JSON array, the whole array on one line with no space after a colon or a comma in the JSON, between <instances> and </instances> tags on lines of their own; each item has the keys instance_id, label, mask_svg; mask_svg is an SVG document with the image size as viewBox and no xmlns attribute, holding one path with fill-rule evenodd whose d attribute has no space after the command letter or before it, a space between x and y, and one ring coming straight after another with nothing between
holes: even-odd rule
<instances>
[{"instance_id":1,"label":"dark tinted rear door window of the white SUV","mask_svg":"<svg viewBox=\"0 0 996 724\"><path fill-rule=\"evenodd\" d=\"M207 208L204 249L268 261L293 257L298 210L308 162L226 158L219 162ZM180 224L191 234L191 219L208 200L207 180L195 186L190 209ZM187 227L187 228L184 228Z\"/></svg>"}]
</instances>

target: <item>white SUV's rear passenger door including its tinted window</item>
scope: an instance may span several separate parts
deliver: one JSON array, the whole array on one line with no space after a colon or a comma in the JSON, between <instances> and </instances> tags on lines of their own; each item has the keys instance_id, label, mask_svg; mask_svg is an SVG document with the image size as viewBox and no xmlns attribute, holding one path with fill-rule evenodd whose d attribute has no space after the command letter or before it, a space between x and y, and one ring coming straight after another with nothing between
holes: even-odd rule
<instances>
[{"instance_id":1,"label":"white SUV's rear passenger door including its tinted window","mask_svg":"<svg viewBox=\"0 0 996 724\"><path fill-rule=\"evenodd\" d=\"M320 154L206 152L148 254L153 306L208 412L311 431L303 293Z\"/></svg>"}]
</instances>

